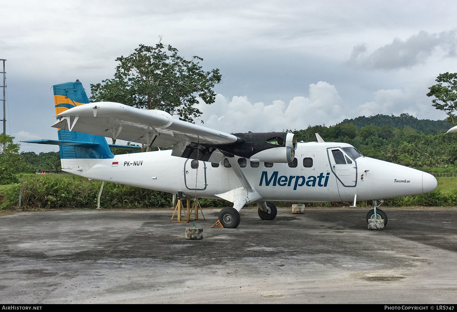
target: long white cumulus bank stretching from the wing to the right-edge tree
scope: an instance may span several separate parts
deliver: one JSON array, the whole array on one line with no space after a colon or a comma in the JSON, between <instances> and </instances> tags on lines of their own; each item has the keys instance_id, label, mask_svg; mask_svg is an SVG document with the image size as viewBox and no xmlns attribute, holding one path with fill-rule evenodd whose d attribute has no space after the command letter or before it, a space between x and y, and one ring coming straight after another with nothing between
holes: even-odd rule
<instances>
[{"instance_id":1,"label":"long white cumulus bank stretching from the wing to the right-edge tree","mask_svg":"<svg viewBox=\"0 0 457 312\"><path fill-rule=\"evenodd\" d=\"M407 88L380 89L372 100L357 104L342 99L334 85L324 81L311 83L308 97L296 96L288 103L283 100L252 103L246 96L232 99L218 94L211 105L201 102L206 127L236 132L268 132L306 129L309 125L336 125L345 118L376 114L408 113L419 119L443 119L439 111L430 110L430 100L424 96L423 85Z\"/></svg>"}]
</instances>

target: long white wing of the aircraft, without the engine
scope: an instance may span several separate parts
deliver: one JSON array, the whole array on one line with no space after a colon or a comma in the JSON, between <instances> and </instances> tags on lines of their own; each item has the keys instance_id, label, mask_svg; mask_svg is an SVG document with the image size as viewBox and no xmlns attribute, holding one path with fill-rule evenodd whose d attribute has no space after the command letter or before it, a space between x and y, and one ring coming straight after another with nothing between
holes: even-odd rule
<instances>
[{"instance_id":1,"label":"long white wing of the aircraft, without the engine","mask_svg":"<svg viewBox=\"0 0 457 312\"><path fill-rule=\"evenodd\" d=\"M57 115L54 128L169 147L180 142L205 145L234 143L238 137L194 125L161 110L143 110L113 102L76 106Z\"/></svg>"}]
</instances>

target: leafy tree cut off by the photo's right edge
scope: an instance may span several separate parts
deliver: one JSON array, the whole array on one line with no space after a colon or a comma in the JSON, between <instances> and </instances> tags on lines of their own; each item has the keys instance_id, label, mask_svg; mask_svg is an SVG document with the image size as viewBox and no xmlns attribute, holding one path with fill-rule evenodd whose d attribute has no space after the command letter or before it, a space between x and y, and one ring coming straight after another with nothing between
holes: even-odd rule
<instances>
[{"instance_id":1,"label":"leafy tree cut off by the photo's right edge","mask_svg":"<svg viewBox=\"0 0 457 312\"><path fill-rule=\"evenodd\" d=\"M457 110L457 73L443 73L436 78L436 84L429 88L427 96L434 96L432 106L447 114L447 120L456 123Z\"/></svg>"}]
</instances>

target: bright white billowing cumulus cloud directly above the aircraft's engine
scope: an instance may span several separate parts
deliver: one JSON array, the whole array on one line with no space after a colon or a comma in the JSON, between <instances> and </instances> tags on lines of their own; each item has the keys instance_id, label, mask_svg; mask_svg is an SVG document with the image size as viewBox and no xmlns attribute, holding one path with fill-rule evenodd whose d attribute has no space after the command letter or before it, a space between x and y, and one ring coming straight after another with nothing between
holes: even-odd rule
<instances>
[{"instance_id":1,"label":"bright white billowing cumulus cloud directly above the aircraft's engine","mask_svg":"<svg viewBox=\"0 0 457 312\"><path fill-rule=\"evenodd\" d=\"M308 125L332 125L345 118L335 86L319 81L309 85L309 96L294 97L288 104L252 103L246 96L224 98L211 105L200 103L205 126L225 132L267 132L306 129Z\"/></svg>"}]
</instances>

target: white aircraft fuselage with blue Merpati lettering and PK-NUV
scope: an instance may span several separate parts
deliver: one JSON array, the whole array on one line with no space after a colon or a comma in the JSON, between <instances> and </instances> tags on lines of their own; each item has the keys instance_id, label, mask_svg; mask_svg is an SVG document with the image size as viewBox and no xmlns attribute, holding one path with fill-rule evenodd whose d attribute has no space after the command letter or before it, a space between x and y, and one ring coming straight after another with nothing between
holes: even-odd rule
<instances>
[{"instance_id":1,"label":"white aircraft fuselage with blue Merpati lettering and PK-NUV","mask_svg":"<svg viewBox=\"0 0 457 312\"><path fill-rule=\"evenodd\" d=\"M352 202L422 194L436 187L428 173L361 156L349 144L298 143L292 163L235 157L264 201ZM242 187L225 159L220 164L171 156L171 151L116 155L112 159L62 159L64 171L190 197L219 198Z\"/></svg>"}]
</instances>

